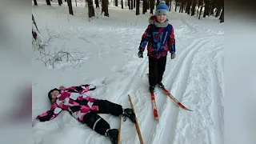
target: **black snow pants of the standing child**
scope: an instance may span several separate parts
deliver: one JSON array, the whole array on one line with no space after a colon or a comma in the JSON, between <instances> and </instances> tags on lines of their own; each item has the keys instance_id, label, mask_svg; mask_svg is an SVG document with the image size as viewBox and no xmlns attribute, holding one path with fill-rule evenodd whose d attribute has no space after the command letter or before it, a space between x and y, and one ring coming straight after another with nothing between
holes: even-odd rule
<instances>
[{"instance_id":1,"label":"black snow pants of the standing child","mask_svg":"<svg viewBox=\"0 0 256 144\"><path fill-rule=\"evenodd\" d=\"M149 81L150 86L156 86L162 82L162 75L166 70L166 56L154 58L149 56Z\"/></svg>"}]
</instances>

